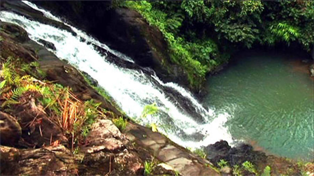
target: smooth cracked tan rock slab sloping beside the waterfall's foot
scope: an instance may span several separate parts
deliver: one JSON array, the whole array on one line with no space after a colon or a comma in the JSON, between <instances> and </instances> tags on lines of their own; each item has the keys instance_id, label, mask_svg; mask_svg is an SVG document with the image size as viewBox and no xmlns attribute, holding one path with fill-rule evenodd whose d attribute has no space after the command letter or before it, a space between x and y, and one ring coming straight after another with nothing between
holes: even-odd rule
<instances>
[{"instance_id":1,"label":"smooth cracked tan rock slab sloping beside the waterfall's foot","mask_svg":"<svg viewBox=\"0 0 314 176\"><path fill-rule=\"evenodd\" d=\"M205 166L208 161L147 127L129 122L123 133L129 140L148 149L158 160L170 165L182 175L220 175L214 169Z\"/></svg>"}]
</instances>

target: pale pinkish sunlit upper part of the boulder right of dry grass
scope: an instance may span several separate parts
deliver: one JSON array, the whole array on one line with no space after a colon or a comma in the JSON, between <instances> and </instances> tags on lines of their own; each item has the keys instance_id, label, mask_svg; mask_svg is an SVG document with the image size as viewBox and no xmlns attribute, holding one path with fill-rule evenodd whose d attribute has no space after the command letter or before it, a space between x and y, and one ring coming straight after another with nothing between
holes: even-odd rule
<instances>
[{"instance_id":1,"label":"pale pinkish sunlit upper part of the boulder right of dry grass","mask_svg":"<svg viewBox=\"0 0 314 176\"><path fill-rule=\"evenodd\" d=\"M119 131L119 129L107 119L98 119L92 127L92 131L87 137L88 145L81 148L87 153L95 153L99 151L109 151L118 153L126 148L127 138Z\"/></svg>"}]
</instances>

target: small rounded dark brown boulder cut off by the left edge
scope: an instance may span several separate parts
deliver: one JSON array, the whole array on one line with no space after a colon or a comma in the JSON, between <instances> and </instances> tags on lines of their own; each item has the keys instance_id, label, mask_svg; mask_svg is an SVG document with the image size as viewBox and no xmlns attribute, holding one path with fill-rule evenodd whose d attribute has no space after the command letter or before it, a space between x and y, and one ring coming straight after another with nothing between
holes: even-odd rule
<instances>
[{"instance_id":1,"label":"small rounded dark brown boulder cut off by the left edge","mask_svg":"<svg viewBox=\"0 0 314 176\"><path fill-rule=\"evenodd\" d=\"M22 129L14 117L0 111L0 142L1 145L14 146L18 143Z\"/></svg>"}]
</instances>

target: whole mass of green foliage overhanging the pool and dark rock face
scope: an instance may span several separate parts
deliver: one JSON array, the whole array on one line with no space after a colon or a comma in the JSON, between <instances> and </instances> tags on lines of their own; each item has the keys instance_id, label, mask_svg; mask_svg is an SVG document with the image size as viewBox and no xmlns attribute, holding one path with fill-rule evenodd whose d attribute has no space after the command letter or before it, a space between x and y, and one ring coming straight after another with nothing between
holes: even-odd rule
<instances>
[{"instance_id":1,"label":"whole mass of green foliage overhanging the pool and dark rock face","mask_svg":"<svg viewBox=\"0 0 314 176\"><path fill-rule=\"evenodd\" d=\"M314 1L118 1L138 11L168 43L171 61L199 89L205 75L237 48L314 44ZM219 47L217 47L219 46ZM224 54L222 54L224 53Z\"/></svg>"}]
</instances>

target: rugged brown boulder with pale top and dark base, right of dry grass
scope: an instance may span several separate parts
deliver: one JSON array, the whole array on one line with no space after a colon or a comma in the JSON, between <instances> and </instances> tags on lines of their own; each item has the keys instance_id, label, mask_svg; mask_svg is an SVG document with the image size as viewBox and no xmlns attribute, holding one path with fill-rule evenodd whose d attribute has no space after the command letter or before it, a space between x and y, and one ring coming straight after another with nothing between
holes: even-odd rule
<instances>
[{"instance_id":1,"label":"rugged brown boulder with pale top and dark base, right of dry grass","mask_svg":"<svg viewBox=\"0 0 314 176\"><path fill-rule=\"evenodd\" d=\"M88 144L81 147L85 153L80 173L95 175L114 171L117 175L142 175L143 161L132 151L129 140L108 119L98 119L87 137ZM92 169L90 169L92 168Z\"/></svg>"}]
</instances>

